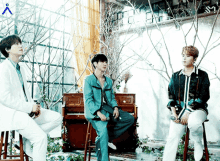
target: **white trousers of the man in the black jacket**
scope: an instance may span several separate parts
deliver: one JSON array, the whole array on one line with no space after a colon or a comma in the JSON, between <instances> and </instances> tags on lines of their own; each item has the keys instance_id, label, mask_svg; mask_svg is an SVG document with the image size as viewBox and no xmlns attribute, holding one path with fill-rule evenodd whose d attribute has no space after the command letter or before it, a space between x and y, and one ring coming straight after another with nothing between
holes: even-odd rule
<instances>
[{"instance_id":1,"label":"white trousers of the man in the black jacket","mask_svg":"<svg viewBox=\"0 0 220 161\"><path fill-rule=\"evenodd\" d=\"M200 161L203 156L203 127L202 123L206 120L207 114L202 110L196 110L189 115L188 128L190 130L190 139L194 142L194 158ZM184 134L186 125L170 122L170 131L167 143L164 149L163 161L175 161L178 144Z\"/></svg>"}]
</instances>

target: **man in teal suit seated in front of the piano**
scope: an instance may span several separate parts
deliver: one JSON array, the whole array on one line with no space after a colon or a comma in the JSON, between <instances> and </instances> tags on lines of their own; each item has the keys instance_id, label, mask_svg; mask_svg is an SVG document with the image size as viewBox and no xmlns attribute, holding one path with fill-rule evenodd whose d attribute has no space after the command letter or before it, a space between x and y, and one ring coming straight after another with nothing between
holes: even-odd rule
<instances>
[{"instance_id":1,"label":"man in teal suit seated in front of the piano","mask_svg":"<svg viewBox=\"0 0 220 161\"><path fill-rule=\"evenodd\" d=\"M95 72L84 81L85 117L97 132L96 154L98 161L108 160L108 145L116 149L112 140L122 135L134 123L134 117L122 111L115 100L112 80L104 75L108 59L104 54L96 54L92 59ZM108 121L114 123L107 129Z\"/></svg>"}]
</instances>

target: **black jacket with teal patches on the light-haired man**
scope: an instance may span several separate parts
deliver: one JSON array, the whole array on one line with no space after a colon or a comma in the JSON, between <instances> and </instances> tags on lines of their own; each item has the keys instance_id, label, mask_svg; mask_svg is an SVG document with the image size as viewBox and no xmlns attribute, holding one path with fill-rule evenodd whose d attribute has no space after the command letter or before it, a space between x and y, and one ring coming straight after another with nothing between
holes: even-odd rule
<instances>
[{"instance_id":1,"label":"black jacket with teal patches on the light-haired man","mask_svg":"<svg viewBox=\"0 0 220 161\"><path fill-rule=\"evenodd\" d=\"M168 86L169 103L167 107L174 107L180 105L184 106L184 88L185 88L185 75L180 74L182 70L174 73ZM199 80L198 80L199 79ZM197 87L198 83L198 87ZM198 76L195 72L191 74L189 95L188 95L188 106L192 109L203 109L208 113L207 101L210 98L209 94L209 77L208 74L198 69ZM179 104L179 90L180 90L180 104Z\"/></svg>"}]
</instances>

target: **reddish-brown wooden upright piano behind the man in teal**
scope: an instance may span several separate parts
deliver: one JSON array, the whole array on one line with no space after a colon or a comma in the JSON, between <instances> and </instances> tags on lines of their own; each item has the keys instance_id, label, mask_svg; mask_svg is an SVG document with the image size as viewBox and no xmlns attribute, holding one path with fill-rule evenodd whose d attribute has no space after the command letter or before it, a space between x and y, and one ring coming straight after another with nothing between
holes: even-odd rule
<instances>
[{"instance_id":1,"label":"reddish-brown wooden upright piano behind the man in teal","mask_svg":"<svg viewBox=\"0 0 220 161\"><path fill-rule=\"evenodd\" d=\"M137 106L135 105L135 94L115 94L118 106L123 111L127 111L135 118L132 128L126 131L122 136L115 139L113 143L120 150L134 151L137 145ZM83 93L68 93L63 95L63 151L72 151L73 149L84 149L87 120L84 116ZM96 132L93 130L93 142L95 141ZM128 144L127 146L125 144ZM123 146L122 146L123 145Z\"/></svg>"}]
</instances>

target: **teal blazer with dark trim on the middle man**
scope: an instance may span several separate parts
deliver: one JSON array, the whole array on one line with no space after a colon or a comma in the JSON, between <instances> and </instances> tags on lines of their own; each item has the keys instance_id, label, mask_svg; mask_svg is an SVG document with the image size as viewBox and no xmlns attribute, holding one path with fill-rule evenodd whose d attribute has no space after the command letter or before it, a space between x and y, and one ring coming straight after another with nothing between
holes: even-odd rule
<instances>
[{"instance_id":1,"label":"teal blazer with dark trim on the middle man","mask_svg":"<svg viewBox=\"0 0 220 161\"><path fill-rule=\"evenodd\" d=\"M94 74L87 76L84 80L84 114L87 119L99 118L96 113L103 104L103 97L105 97L106 103L110 107L114 108L118 106L112 89L112 80L109 77L104 77L105 83L103 89L98 78ZM100 111L106 117L109 117L109 113L104 110Z\"/></svg>"}]
</instances>

